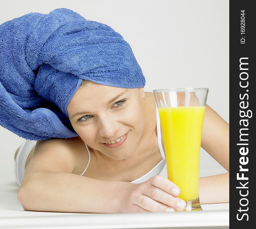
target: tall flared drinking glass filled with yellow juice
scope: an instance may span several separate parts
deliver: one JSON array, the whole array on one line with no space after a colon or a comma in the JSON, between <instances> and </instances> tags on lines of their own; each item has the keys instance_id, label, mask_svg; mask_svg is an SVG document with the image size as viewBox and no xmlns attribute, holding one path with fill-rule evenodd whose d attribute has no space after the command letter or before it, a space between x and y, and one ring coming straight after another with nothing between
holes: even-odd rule
<instances>
[{"instance_id":1,"label":"tall flared drinking glass filled with yellow juice","mask_svg":"<svg viewBox=\"0 0 256 229\"><path fill-rule=\"evenodd\" d=\"M180 188L186 211L202 210L199 158L208 88L153 90L164 137L168 179Z\"/></svg>"}]
</instances>

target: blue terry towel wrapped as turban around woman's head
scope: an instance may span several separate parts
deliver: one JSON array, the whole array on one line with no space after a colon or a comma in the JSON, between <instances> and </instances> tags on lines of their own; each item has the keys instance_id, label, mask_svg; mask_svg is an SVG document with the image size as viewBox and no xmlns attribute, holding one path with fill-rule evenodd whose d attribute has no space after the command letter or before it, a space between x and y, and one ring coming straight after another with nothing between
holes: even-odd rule
<instances>
[{"instance_id":1,"label":"blue terry towel wrapped as turban around woman's head","mask_svg":"<svg viewBox=\"0 0 256 229\"><path fill-rule=\"evenodd\" d=\"M24 139L71 138L67 106L82 80L144 87L130 45L110 26L58 8L0 25L0 124Z\"/></svg>"}]
</instances>

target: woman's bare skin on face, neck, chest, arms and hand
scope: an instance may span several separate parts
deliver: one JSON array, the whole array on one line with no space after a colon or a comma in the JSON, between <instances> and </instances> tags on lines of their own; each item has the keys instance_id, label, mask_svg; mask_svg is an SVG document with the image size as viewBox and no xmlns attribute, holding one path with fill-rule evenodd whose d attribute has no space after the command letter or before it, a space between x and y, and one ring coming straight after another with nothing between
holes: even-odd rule
<instances>
[{"instance_id":1,"label":"woman's bare skin on face, neck, chest, arms and hand","mask_svg":"<svg viewBox=\"0 0 256 229\"><path fill-rule=\"evenodd\" d=\"M124 94L121 97L112 103L107 103L122 92ZM90 102L84 103L84 101ZM40 189L47 184L48 186L44 189L45 197L40 202L37 199L39 194L43 194L42 191L37 190L37 195L31 192L26 194L31 203L28 207L26 197L23 200L23 196L20 196L19 201L24 203L25 210L124 213L160 212L167 208L171 209L170 211L185 209L186 206L181 205L185 202L178 198L180 191L177 185L165 177L149 178L150 174L147 174L163 161L157 140L156 103L151 92L145 93L141 88L128 89L126 92L124 89L87 82L87 85L81 85L71 99L68 114L79 136L65 140L50 139L37 142L21 187L22 185L30 187L29 179L36 179L37 182L32 182L31 185L37 184ZM108 148L102 144L127 133L125 142L117 148ZM227 171L229 171L228 136L228 124L212 108L206 106L201 146ZM164 146L163 138L161 139ZM91 155L88 167L86 165L89 155L86 153L84 142L87 143ZM47 152L47 149L51 149L50 152L56 149L58 153L52 154ZM63 156L58 157L63 155L63 150L72 152L72 156L65 153L66 159ZM76 175L82 174L85 167L87 169L82 176L91 179L84 180L86 187L83 190L83 177ZM38 170L62 171L65 174L35 175ZM74 175L69 176L67 172ZM144 174L147 181L139 182L139 178ZM138 182L133 182L136 180ZM132 183L128 185L123 181ZM228 173L199 178L200 202L202 204L229 202L228 182ZM55 185L50 188L49 185L53 183ZM178 193L173 194L171 192L173 188L176 188ZM29 188L26 192L28 190ZM58 199L56 199L57 194ZM74 196L71 200L70 195ZM88 200L81 202L82 196L90 196L89 203ZM181 208L178 208L177 203Z\"/></svg>"}]
</instances>

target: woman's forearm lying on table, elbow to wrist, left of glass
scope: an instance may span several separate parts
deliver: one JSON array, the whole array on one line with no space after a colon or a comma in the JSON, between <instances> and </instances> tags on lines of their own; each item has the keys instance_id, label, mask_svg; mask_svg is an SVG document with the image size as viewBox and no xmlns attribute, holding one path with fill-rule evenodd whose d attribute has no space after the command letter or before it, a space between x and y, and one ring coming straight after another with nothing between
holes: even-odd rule
<instances>
[{"instance_id":1,"label":"woman's forearm lying on table, elbow to wrist, left of glass","mask_svg":"<svg viewBox=\"0 0 256 229\"><path fill-rule=\"evenodd\" d=\"M18 192L26 211L122 213L120 200L132 184L102 181L73 173L37 171Z\"/></svg>"}]
</instances>

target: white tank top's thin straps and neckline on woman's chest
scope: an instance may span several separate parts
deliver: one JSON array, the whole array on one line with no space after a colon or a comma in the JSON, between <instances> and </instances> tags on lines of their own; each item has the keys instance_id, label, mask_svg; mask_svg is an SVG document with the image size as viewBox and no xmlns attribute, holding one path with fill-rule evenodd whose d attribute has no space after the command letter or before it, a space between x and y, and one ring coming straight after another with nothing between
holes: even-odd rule
<instances>
[{"instance_id":1,"label":"white tank top's thin straps and neckline on woman's chest","mask_svg":"<svg viewBox=\"0 0 256 229\"><path fill-rule=\"evenodd\" d=\"M164 150L163 150L162 142L161 142L161 125L160 125L159 113L157 110L157 104L156 104L156 123L157 123L157 140L158 140L158 146L159 146L159 150L160 150L160 153L162 156L162 160L154 168L152 168L149 172L147 172L143 176L139 177L138 179L131 181L130 183L135 183L135 184L142 183L142 182L147 181L149 178L151 178L153 176L159 175L166 164L166 158L164 155ZM89 162L88 162L86 168L84 169L83 173L80 174L80 176L83 176L83 174L85 173L85 171L88 168L89 163L91 161L90 151L87 147L87 144L85 142L84 142L84 144L85 144L87 152L89 154Z\"/></svg>"}]
</instances>

